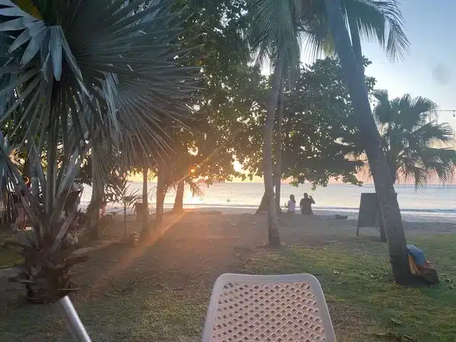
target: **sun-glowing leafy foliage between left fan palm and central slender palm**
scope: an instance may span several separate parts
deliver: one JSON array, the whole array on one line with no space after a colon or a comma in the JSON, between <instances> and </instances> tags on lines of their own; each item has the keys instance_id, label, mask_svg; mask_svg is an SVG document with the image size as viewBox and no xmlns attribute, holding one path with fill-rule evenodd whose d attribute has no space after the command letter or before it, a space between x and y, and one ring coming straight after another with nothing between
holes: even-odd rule
<instances>
[{"instance_id":1,"label":"sun-glowing leafy foliage between left fan palm and central slender palm","mask_svg":"<svg viewBox=\"0 0 456 342\"><path fill-rule=\"evenodd\" d=\"M190 181L206 177L209 183L231 180L240 176L233 168L232 150L240 133L237 119L249 110L239 97L247 81L239 78L239 73L253 73L243 36L247 28L245 4L240 0L180 0L175 6L186 6L182 16L190 18L185 21L185 38L188 46L197 46L192 51L197 61L191 65L204 66L204 78L191 102L195 120L187 122L190 130L167 130L175 140L172 163L176 178Z\"/></svg>"}]
</instances>

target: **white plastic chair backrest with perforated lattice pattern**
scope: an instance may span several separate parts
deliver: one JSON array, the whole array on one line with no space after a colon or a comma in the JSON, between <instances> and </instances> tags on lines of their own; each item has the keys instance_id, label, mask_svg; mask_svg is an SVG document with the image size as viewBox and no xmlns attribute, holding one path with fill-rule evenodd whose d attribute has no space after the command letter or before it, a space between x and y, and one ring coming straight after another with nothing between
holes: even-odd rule
<instances>
[{"instance_id":1,"label":"white plastic chair backrest with perforated lattice pattern","mask_svg":"<svg viewBox=\"0 0 456 342\"><path fill-rule=\"evenodd\" d=\"M215 282L202 342L336 342L311 274L223 274Z\"/></svg>"}]
</instances>

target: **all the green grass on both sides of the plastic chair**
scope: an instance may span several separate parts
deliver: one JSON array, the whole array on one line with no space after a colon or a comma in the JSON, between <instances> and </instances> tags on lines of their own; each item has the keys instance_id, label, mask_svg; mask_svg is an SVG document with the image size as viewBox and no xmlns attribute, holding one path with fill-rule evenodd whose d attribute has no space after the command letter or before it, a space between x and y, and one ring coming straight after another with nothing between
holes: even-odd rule
<instances>
[{"instance_id":1,"label":"all the green grass on both sides of the plastic chair","mask_svg":"<svg viewBox=\"0 0 456 342\"><path fill-rule=\"evenodd\" d=\"M363 237L331 237L326 243L331 245L261 249L242 271L314 274L323 286L338 342L396 341L373 336L390 331L419 342L456 341L456 234L409 237L434 262L441 280L419 289L392 284L385 244ZM106 286L90 300L75 301L93 341L200 341L209 288L167 290L157 279L128 284ZM0 305L0 331L0 341L72 341L56 307L14 300Z\"/></svg>"}]
</instances>

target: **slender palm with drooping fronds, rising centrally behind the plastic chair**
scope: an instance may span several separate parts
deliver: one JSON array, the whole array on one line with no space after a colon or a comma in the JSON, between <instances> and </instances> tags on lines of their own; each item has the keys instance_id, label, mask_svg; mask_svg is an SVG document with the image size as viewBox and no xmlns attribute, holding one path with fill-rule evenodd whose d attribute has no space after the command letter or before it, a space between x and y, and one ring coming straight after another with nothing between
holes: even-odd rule
<instances>
[{"instance_id":1,"label":"slender palm with drooping fronds, rising centrally behind the plastic chair","mask_svg":"<svg viewBox=\"0 0 456 342\"><path fill-rule=\"evenodd\" d=\"M286 72L299 64L298 21L301 18L301 3L297 0L252 0L249 7L251 27L249 36L252 51L258 61L268 59L274 65L271 77L271 92L267 106L263 136L264 201L268 212L269 244L280 244L272 163L272 138L274 116L283 88Z\"/></svg>"}]
</instances>

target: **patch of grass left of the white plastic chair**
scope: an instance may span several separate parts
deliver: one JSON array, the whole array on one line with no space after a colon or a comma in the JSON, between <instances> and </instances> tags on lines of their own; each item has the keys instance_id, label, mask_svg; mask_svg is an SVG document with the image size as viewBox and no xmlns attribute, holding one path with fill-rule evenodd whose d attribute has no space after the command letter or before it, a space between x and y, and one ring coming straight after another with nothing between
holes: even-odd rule
<instances>
[{"instance_id":1,"label":"patch of grass left of the white plastic chair","mask_svg":"<svg viewBox=\"0 0 456 342\"><path fill-rule=\"evenodd\" d=\"M76 310L92 341L200 340L209 294L184 296L153 287L78 304ZM11 308L0 318L0 331L0 341L73 341L53 306Z\"/></svg>"}]
</instances>

